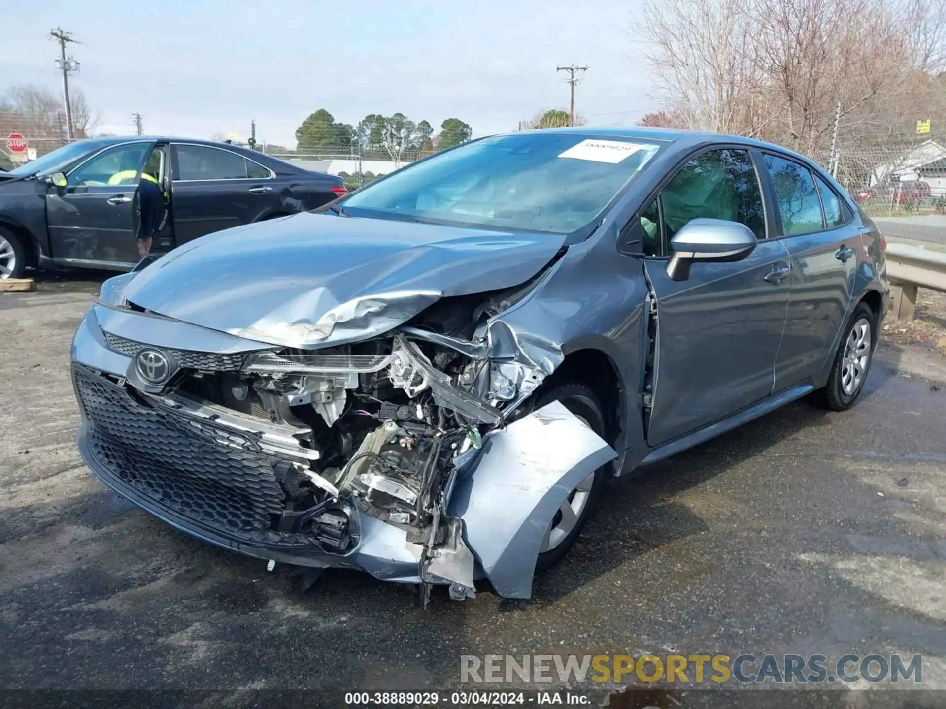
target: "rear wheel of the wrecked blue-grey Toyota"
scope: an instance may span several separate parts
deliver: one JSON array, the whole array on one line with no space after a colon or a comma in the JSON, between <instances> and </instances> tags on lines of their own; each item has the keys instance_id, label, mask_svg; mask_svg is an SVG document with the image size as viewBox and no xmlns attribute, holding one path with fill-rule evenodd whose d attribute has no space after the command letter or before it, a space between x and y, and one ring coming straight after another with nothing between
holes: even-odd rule
<instances>
[{"instance_id":1,"label":"rear wheel of the wrecked blue-grey Toyota","mask_svg":"<svg viewBox=\"0 0 946 709\"><path fill-rule=\"evenodd\" d=\"M865 341L867 337L869 341ZM838 342L828 383L815 392L818 406L845 411L854 405L867 381L876 344L877 317L866 303L860 303Z\"/></svg>"}]
</instances>

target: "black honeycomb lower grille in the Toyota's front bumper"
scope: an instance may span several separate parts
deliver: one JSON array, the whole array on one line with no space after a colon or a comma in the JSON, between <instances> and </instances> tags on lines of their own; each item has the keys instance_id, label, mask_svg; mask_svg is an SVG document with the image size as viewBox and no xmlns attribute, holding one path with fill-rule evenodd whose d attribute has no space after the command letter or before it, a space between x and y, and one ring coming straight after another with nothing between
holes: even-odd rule
<instances>
[{"instance_id":1,"label":"black honeycomb lower grille in the Toyota's front bumper","mask_svg":"<svg viewBox=\"0 0 946 709\"><path fill-rule=\"evenodd\" d=\"M74 365L74 376L92 455L109 474L203 525L279 541L269 530L284 494L254 441L139 403L82 365Z\"/></svg>"}]
</instances>

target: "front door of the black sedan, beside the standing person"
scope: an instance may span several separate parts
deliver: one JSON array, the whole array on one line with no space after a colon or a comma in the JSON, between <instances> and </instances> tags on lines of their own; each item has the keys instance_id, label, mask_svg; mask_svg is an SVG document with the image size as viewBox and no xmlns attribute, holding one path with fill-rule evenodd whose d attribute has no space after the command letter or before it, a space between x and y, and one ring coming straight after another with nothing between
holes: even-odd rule
<instances>
[{"instance_id":1,"label":"front door of the black sedan, beside the standing person","mask_svg":"<svg viewBox=\"0 0 946 709\"><path fill-rule=\"evenodd\" d=\"M136 192L153 142L106 148L46 192L53 261L132 268L139 260Z\"/></svg>"}]
</instances>

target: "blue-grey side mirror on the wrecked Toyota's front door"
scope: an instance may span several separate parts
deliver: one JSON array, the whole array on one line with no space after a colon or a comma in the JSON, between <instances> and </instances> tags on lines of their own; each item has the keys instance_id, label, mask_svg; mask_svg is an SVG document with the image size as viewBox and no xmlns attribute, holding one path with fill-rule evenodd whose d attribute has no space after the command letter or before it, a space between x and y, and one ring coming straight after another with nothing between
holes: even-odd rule
<instances>
[{"instance_id":1,"label":"blue-grey side mirror on the wrecked Toyota's front door","mask_svg":"<svg viewBox=\"0 0 946 709\"><path fill-rule=\"evenodd\" d=\"M693 261L739 261L757 243L752 230L738 221L691 219L670 240L674 255L667 264L667 275L674 281L686 281Z\"/></svg>"}]
</instances>

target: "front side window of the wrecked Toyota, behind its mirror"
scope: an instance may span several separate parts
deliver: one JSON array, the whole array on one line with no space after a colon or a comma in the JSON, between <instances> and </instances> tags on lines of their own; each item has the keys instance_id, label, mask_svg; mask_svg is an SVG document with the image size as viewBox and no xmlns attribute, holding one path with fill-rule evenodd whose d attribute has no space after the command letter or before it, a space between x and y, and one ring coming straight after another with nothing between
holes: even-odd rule
<instances>
[{"instance_id":1,"label":"front side window of the wrecked Toyota, behind its mirror","mask_svg":"<svg viewBox=\"0 0 946 709\"><path fill-rule=\"evenodd\" d=\"M765 238L762 189L746 150L710 150L693 158L660 192L663 228L669 243L674 234L697 217L726 219L745 224L757 238ZM653 205L641 215L641 227L656 216ZM659 238L657 238L659 243Z\"/></svg>"}]
</instances>

